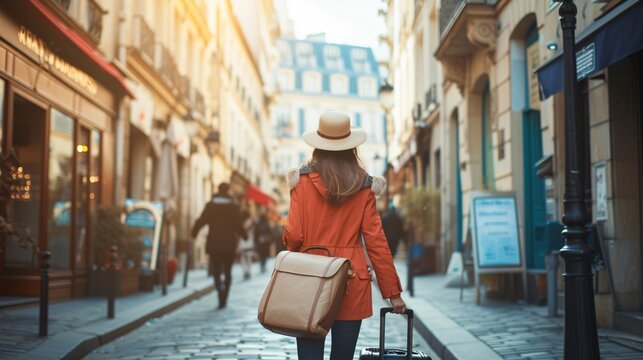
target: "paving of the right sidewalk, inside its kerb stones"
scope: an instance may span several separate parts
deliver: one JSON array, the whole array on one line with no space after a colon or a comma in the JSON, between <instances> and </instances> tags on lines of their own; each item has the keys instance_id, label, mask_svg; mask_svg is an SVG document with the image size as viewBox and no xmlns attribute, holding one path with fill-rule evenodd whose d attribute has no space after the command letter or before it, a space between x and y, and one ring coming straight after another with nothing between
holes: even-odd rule
<instances>
[{"instance_id":1,"label":"paving of the right sidewalk, inside its kerb stones","mask_svg":"<svg viewBox=\"0 0 643 360\"><path fill-rule=\"evenodd\" d=\"M399 265L400 276L405 276L405 267ZM416 277L416 297L426 300L502 358L563 359L562 315L550 318L546 306L512 302L484 300L476 306L474 288L466 288L460 302L460 290L444 287L444 280L441 274ZM423 320L431 328L431 319ZM599 329L599 342L601 359L643 359L640 337Z\"/></svg>"}]
</instances>

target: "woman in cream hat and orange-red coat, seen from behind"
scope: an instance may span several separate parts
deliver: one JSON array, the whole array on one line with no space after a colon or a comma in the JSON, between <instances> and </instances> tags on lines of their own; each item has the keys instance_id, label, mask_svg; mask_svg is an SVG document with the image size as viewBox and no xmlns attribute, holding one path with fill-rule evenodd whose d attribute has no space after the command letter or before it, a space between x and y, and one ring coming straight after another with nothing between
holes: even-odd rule
<instances>
[{"instance_id":1,"label":"woman in cream hat and orange-red coat, seen from behind","mask_svg":"<svg viewBox=\"0 0 643 360\"><path fill-rule=\"evenodd\" d=\"M291 251L324 246L333 256L350 259L356 276L348 281L331 327L330 359L352 359L362 319L373 315L371 278L360 234L382 297L390 300L393 312L406 310L375 206L374 193L381 194L386 184L363 169L357 146L366 140L366 133L351 127L348 115L323 113L318 129L304 133L303 140L315 149L306 165L288 173L290 211L283 240ZM302 360L323 359L324 339L297 338L297 353Z\"/></svg>"}]
</instances>

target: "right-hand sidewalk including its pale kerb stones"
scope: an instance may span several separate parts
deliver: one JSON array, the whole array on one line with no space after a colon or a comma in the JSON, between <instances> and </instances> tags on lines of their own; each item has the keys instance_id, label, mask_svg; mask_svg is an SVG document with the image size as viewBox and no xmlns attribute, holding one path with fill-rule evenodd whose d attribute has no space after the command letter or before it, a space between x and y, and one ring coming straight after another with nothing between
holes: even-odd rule
<instances>
[{"instance_id":1,"label":"right-hand sidewalk including its pale kerb stones","mask_svg":"<svg viewBox=\"0 0 643 360\"><path fill-rule=\"evenodd\" d=\"M402 283L406 264L397 262ZM415 297L404 300L416 312L416 328L444 360L563 359L564 320L546 306L482 300L474 288L447 288L443 274L417 276ZM641 359L643 339L607 329L598 331L601 359Z\"/></svg>"}]
</instances>

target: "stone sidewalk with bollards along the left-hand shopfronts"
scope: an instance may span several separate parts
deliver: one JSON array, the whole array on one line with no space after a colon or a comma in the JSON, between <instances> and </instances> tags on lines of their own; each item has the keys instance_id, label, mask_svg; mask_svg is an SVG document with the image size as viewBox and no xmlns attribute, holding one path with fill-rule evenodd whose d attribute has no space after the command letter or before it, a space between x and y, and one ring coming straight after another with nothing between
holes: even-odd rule
<instances>
[{"instance_id":1,"label":"stone sidewalk with bollards along the left-hand shopfronts","mask_svg":"<svg viewBox=\"0 0 643 360\"><path fill-rule=\"evenodd\" d=\"M81 298L49 305L49 336L38 337L39 308L0 311L0 359L77 359L147 320L170 312L214 288L205 270L192 270L183 288L177 273L166 296L153 292L118 297L115 318L107 319L106 298Z\"/></svg>"}]
</instances>

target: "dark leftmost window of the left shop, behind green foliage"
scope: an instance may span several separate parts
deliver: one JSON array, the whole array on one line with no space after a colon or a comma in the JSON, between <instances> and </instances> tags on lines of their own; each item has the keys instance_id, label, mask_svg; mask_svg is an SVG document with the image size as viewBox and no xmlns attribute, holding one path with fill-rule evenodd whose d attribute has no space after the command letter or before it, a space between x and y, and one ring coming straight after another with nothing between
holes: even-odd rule
<instances>
[{"instance_id":1,"label":"dark leftmost window of the left shop, behind green foliage","mask_svg":"<svg viewBox=\"0 0 643 360\"><path fill-rule=\"evenodd\" d=\"M20 95L13 99L12 148L22 164L18 176L24 187L12 194L7 213L9 222L21 224L33 239L40 237L40 205L45 143L46 111ZM18 239L5 239L5 267L36 267L37 254L30 244Z\"/></svg>"}]
</instances>

